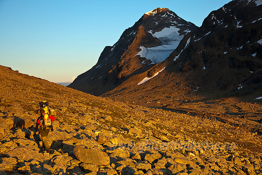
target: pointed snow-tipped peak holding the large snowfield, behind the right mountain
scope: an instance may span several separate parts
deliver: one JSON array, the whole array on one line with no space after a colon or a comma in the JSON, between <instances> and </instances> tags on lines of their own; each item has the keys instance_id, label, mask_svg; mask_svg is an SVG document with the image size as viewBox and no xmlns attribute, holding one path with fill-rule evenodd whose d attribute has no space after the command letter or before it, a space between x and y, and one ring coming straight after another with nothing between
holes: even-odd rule
<instances>
[{"instance_id":1,"label":"pointed snow-tipped peak holding the large snowfield, behind the right mountain","mask_svg":"<svg viewBox=\"0 0 262 175\"><path fill-rule=\"evenodd\" d=\"M145 13L123 32L116 44L104 48L92 69L79 75L68 87L94 95L104 94L132 75L165 60L183 36L197 28L167 8Z\"/></svg>"}]
</instances>

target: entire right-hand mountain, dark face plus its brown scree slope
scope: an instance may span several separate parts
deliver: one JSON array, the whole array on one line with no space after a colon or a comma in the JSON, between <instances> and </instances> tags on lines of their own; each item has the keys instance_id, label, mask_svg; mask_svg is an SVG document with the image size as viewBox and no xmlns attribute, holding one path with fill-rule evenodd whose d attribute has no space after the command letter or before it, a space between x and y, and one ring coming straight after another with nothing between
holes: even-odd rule
<instances>
[{"instance_id":1,"label":"entire right-hand mountain, dark face plus its brown scree slope","mask_svg":"<svg viewBox=\"0 0 262 175\"><path fill-rule=\"evenodd\" d=\"M103 96L165 104L232 97L257 102L262 94L261 8L260 1L225 4L185 35L165 61ZM138 85L156 73L157 77Z\"/></svg>"}]
</instances>

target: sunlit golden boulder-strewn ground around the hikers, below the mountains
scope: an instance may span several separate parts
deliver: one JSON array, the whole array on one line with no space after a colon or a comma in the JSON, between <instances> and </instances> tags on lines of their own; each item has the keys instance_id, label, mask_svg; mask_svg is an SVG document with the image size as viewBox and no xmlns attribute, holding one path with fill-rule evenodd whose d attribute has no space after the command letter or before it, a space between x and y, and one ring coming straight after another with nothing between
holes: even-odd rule
<instances>
[{"instance_id":1,"label":"sunlit golden boulder-strewn ground around the hikers, below the mountains","mask_svg":"<svg viewBox=\"0 0 262 175\"><path fill-rule=\"evenodd\" d=\"M260 104L142 107L3 66L0 75L0 174L262 174ZM50 153L35 133L43 100L55 116Z\"/></svg>"}]
</instances>

